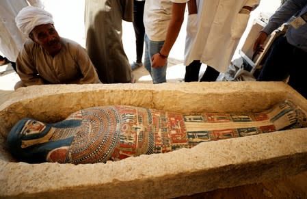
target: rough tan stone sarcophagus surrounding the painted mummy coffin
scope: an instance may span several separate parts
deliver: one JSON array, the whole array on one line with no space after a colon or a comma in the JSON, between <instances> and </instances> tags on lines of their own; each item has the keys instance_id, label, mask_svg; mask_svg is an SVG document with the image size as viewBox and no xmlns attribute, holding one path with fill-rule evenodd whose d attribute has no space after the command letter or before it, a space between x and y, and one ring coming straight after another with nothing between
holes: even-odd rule
<instances>
[{"instance_id":1,"label":"rough tan stone sarcophagus surrounding the painted mummy coffin","mask_svg":"<svg viewBox=\"0 0 307 199\"><path fill-rule=\"evenodd\" d=\"M25 163L6 143L23 118L59 122L89 107L133 105L181 112L258 113L289 100L307 101L285 83L214 82L43 85L0 98L1 197L174 198L258 183L307 170L307 129L202 142L164 154L107 163Z\"/></svg>"}]
</instances>

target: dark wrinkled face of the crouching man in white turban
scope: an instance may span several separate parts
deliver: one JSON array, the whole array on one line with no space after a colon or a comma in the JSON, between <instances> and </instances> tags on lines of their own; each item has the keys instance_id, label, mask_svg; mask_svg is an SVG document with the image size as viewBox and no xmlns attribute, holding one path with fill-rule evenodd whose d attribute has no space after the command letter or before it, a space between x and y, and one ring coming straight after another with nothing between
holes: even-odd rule
<instances>
[{"instance_id":1,"label":"dark wrinkled face of the crouching man in white turban","mask_svg":"<svg viewBox=\"0 0 307 199\"><path fill-rule=\"evenodd\" d=\"M36 26L29 37L34 42L40 44L51 56L56 55L62 48L59 42L59 35L52 24L44 24Z\"/></svg>"}]
</instances>

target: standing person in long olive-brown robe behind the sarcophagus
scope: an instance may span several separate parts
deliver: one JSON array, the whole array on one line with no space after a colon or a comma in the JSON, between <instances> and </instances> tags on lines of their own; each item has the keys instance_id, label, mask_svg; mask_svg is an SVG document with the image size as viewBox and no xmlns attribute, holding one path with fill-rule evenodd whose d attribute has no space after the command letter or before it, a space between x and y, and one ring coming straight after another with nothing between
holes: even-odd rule
<instances>
[{"instance_id":1,"label":"standing person in long olive-brown robe behind the sarcophagus","mask_svg":"<svg viewBox=\"0 0 307 199\"><path fill-rule=\"evenodd\" d=\"M133 21L133 0L86 0L85 46L103 83L131 83L122 20Z\"/></svg>"}]
</instances>

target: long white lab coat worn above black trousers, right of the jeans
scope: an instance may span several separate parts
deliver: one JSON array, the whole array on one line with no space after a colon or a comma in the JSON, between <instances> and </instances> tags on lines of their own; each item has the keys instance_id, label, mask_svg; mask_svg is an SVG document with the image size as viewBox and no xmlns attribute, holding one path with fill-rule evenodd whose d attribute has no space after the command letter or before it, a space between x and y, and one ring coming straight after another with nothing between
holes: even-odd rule
<instances>
[{"instance_id":1,"label":"long white lab coat worn above black trousers, right of the jeans","mask_svg":"<svg viewBox=\"0 0 307 199\"><path fill-rule=\"evenodd\" d=\"M260 0L196 0L198 14L189 15L185 44L185 66L193 60L226 72L250 14L240 14L244 5Z\"/></svg>"}]
</instances>

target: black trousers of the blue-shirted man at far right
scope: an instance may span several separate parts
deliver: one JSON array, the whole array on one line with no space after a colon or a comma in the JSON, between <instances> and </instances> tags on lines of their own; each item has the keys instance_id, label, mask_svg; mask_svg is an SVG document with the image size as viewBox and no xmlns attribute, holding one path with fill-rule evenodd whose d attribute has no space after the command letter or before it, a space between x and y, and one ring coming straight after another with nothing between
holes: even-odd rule
<instances>
[{"instance_id":1,"label":"black trousers of the blue-shirted man at far right","mask_svg":"<svg viewBox=\"0 0 307 199\"><path fill-rule=\"evenodd\" d=\"M290 75L288 84L307 98L306 63L307 52L279 36L272 44L257 81L283 81Z\"/></svg>"}]
</instances>

